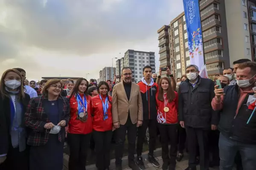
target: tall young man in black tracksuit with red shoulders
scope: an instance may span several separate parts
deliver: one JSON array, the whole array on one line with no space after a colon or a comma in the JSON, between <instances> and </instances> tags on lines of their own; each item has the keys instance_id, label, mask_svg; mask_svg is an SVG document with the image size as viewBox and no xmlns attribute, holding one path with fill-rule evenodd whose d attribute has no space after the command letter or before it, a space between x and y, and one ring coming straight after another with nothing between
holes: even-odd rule
<instances>
[{"instance_id":1,"label":"tall young man in black tracksuit with red shoulders","mask_svg":"<svg viewBox=\"0 0 256 170\"><path fill-rule=\"evenodd\" d=\"M141 82L138 83L140 86L141 97L143 101L143 124L138 127L138 141L137 141L137 165L140 170L145 170L143 159L141 157L143 150L143 143L145 139L146 130L149 130L149 153L148 161L159 167L160 164L154 158L154 149L157 137L157 102L156 94L158 91L158 85L152 79L152 68L147 65L143 68L144 77Z\"/></svg>"}]
</instances>

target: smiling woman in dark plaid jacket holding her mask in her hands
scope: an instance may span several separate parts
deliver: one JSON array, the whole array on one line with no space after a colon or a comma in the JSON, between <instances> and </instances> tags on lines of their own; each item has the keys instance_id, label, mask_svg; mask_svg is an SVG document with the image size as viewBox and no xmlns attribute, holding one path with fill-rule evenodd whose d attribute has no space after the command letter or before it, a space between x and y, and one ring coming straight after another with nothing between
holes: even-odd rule
<instances>
[{"instance_id":1,"label":"smiling woman in dark plaid jacket holding her mask in her hands","mask_svg":"<svg viewBox=\"0 0 256 170\"><path fill-rule=\"evenodd\" d=\"M32 129L28 138L30 170L62 170L65 126L70 118L70 104L61 96L61 80L46 82L42 96L32 98L25 115Z\"/></svg>"}]
</instances>

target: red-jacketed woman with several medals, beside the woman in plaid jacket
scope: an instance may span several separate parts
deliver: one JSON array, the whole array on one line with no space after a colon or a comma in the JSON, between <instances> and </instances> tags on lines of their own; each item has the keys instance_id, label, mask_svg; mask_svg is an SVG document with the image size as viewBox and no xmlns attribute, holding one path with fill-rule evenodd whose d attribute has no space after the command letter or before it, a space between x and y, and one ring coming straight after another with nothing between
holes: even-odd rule
<instances>
[{"instance_id":1,"label":"red-jacketed woman with several medals, beside the woman in plaid jacket","mask_svg":"<svg viewBox=\"0 0 256 170\"><path fill-rule=\"evenodd\" d=\"M70 122L67 142L70 146L69 169L85 170L92 125L92 99L87 94L88 82L79 78L70 92Z\"/></svg>"}]
</instances>

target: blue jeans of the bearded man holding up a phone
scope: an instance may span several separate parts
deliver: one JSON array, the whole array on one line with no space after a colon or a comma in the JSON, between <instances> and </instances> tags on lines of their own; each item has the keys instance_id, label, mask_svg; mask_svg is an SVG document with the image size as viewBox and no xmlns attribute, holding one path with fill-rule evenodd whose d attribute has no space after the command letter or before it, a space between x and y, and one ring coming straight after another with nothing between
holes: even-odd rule
<instances>
[{"instance_id":1,"label":"blue jeans of the bearded man holding up a phone","mask_svg":"<svg viewBox=\"0 0 256 170\"><path fill-rule=\"evenodd\" d=\"M233 170L237 151L241 154L244 170L255 170L256 144L245 144L235 141L223 136L221 133L219 139L220 170Z\"/></svg>"}]
</instances>

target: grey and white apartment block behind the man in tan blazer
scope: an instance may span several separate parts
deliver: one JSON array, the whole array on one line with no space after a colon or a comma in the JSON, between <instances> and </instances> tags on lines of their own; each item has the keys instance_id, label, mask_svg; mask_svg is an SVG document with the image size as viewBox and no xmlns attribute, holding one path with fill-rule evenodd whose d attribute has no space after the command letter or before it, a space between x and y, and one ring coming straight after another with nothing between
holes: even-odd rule
<instances>
[{"instance_id":1,"label":"grey and white apartment block behind the man in tan blazer","mask_svg":"<svg viewBox=\"0 0 256 170\"><path fill-rule=\"evenodd\" d=\"M154 52L127 50L124 57L116 60L116 68L118 66L118 70L116 72L121 75L123 67L130 67L134 80L138 82L143 77L142 70L146 65L150 65L152 67L152 72L155 73Z\"/></svg>"}]
</instances>

